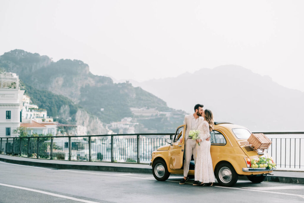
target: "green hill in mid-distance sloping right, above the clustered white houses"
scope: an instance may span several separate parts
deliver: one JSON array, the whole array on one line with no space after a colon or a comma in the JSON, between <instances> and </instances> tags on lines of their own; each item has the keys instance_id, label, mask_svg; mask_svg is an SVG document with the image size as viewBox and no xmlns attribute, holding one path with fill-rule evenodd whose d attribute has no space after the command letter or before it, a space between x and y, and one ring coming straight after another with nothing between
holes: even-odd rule
<instances>
[{"instance_id":1,"label":"green hill in mid-distance sloping right, above the clustered white houses","mask_svg":"<svg viewBox=\"0 0 304 203\"><path fill-rule=\"evenodd\" d=\"M119 121L124 117L132 117L130 107L149 107L160 111L170 111L166 103L140 87L119 83L101 87L86 86L81 88L83 99L79 105L89 112L94 112L103 122ZM100 109L104 109L101 111Z\"/></svg>"}]
</instances>

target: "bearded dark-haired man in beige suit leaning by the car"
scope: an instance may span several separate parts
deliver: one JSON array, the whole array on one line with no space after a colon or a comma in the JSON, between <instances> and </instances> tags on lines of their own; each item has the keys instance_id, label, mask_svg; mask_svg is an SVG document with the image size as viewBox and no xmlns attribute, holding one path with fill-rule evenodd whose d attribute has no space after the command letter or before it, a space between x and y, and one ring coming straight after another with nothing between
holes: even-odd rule
<instances>
[{"instance_id":1,"label":"bearded dark-haired man in beige suit leaning by the car","mask_svg":"<svg viewBox=\"0 0 304 203\"><path fill-rule=\"evenodd\" d=\"M194 106L194 114L186 115L184 119L184 125L186 125L186 134L185 134L185 160L184 160L184 178L181 179L179 182L180 185L185 184L185 182L189 179L188 171L189 171L189 164L191 161L191 157L193 155L194 158L194 164L196 161L196 141L192 140L189 137L190 130L197 130L197 127L200 123L204 121L204 118L202 116L202 112L204 105L197 104ZM208 141L210 138L207 138ZM194 181L193 185L198 185L198 181Z\"/></svg>"}]
</instances>

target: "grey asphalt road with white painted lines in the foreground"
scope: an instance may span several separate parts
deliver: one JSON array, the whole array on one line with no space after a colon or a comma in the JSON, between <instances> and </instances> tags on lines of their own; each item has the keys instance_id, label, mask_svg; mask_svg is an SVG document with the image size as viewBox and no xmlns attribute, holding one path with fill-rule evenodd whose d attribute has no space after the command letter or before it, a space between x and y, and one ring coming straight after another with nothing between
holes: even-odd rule
<instances>
[{"instance_id":1,"label":"grey asphalt road with white painted lines in the foreground","mask_svg":"<svg viewBox=\"0 0 304 203\"><path fill-rule=\"evenodd\" d=\"M251 183L234 187L179 185L152 174L57 170L0 162L0 202L304 202L304 185Z\"/></svg>"}]
</instances>

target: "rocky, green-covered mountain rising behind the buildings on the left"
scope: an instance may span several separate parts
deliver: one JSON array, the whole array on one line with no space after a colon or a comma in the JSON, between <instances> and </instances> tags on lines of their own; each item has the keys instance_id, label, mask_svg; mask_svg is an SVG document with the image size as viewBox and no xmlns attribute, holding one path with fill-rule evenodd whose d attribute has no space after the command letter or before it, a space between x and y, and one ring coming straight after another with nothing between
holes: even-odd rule
<instances>
[{"instance_id":1,"label":"rocky, green-covered mountain rising behind the buildings on the left","mask_svg":"<svg viewBox=\"0 0 304 203\"><path fill-rule=\"evenodd\" d=\"M0 56L0 68L17 73L26 85L71 99L104 123L134 117L131 107L154 108L172 112L175 118L145 118L142 122L141 118L134 118L149 130L172 132L182 123L185 114L169 108L162 99L140 87L133 87L128 82L116 84L109 77L93 75L89 66L80 60L60 59L54 62L48 56L16 49ZM157 122L163 123L162 128L155 129Z\"/></svg>"}]
</instances>

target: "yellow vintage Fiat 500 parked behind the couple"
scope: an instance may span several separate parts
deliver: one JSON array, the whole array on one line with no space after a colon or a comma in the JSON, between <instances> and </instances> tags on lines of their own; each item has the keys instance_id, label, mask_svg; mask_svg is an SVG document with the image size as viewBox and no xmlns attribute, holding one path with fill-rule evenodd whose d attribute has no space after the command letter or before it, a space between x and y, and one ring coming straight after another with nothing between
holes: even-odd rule
<instances>
[{"instance_id":1,"label":"yellow vintage Fiat 500 parked behind the couple","mask_svg":"<svg viewBox=\"0 0 304 203\"><path fill-rule=\"evenodd\" d=\"M179 126L173 140L166 139L167 145L152 152L150 166L156 180L167 180L170 173L183 174L185 131L185 125ZM247 141L251 132L247 128L232 123L215 122L210 135L213 170L221 186L233 186L238 176L247 176L250 181L260 183L274 170L250 168L250 160L270 157L266 151L255 151L251 147ZM188 175L194 175L194 161L190 163Z\"/></svg>"}]
</instances>

